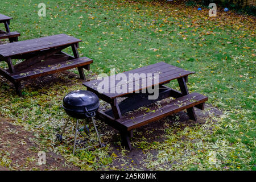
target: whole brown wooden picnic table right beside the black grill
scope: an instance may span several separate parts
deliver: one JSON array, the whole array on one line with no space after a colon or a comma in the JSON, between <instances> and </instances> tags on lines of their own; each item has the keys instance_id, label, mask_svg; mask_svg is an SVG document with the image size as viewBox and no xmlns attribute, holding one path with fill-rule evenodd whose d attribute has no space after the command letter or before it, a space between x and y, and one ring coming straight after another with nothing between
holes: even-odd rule
<instances>
[{"instance_id":1,"label":"whole brown wooden picnic table right beside the black grill","mask_svg":"<svg viewBox=\"0 0 256 182\"><path fill-rule=\"evenodd\" d=\"M98 110L96 116L118 130L121 133L123 145L129 147L129 149L131 149L130 138L133 136L133 129L184 109L187 109L189 119L197 121L194 107L203 110L204 103L208 100L208 97L199 93L189 94L186 82L188 81L188 75L191 75L194 72L185 71L184 69L174 67L167 63L156 63L123 73L127 76L127 80L129 80L129 73L158 73L159 78L157 82L152 81L152 84L147 85L142 84L143 79L147 78L135 78L132 83L126 82L125 84L122 84L122 86L126 86L127 88L127 92L122 93L102 93L102 90L99 91L98 87L102 80L84 82L83 85L86 86L87 90L97 94L101 100L104 100L111 105L112 109L106 111ZM139 86L137 85L138 79L140 81ZM168 84L171 80L175 79L177 79L179 83L181 92L164 86L164 84ZM114 78L113 76L110 76L107 80L109 80L108 85L110 90L113 86L110 81L113 81ZM113 87L120 88L120 85L118 85L117 82L119 81L114 80ZM133 86L129 88L129 84ZM148 100L148 95L150 95L150 93L143 93L142 90L147 90L152 86L158 86L159 97L155 100ZM140 93L135 93L138 91ZM118 103L118 97L126 98ZM167 101L163 102L164 99L167 99ZM153 104L157 101L160 103L157 105ZM150 107L146 110L140 110L139 107L143 106Z\"/></svg>"}]
</instances>

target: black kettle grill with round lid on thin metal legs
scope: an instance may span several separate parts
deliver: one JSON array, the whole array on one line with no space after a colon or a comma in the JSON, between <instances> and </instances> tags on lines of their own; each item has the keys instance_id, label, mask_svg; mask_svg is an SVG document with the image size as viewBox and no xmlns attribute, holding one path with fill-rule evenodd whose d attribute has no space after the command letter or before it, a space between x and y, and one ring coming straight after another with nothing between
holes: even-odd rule
<instances>
[{"instance_id":1,"label":"black kettle grill with round lid on thin metal legs","mask_svg":"<svg viewBox=\"0 0 256 182\"><path fill-rule=\"evenodd\" d=\"M79 119L92 118L93 125L96 130L100 145L101 147L104 146L104 144L101 143L100 135L98 134L98 130L93 118L96 115L96 111L98 110L98 107L100 107L98 96L96 96L96 94L88 90L72 91L72 92L69 92L63 98L63 109L70 117L77 119L73 155L75 154L75 149L76 149L76 135L78 131L77 128L79 125ZM61 134L56 135L57 140L59 141L62 140L62 135L64 134L67 123L68 121L65 123L63 132ZM86 127L86 125L84 126L84 130L88 131L89 133L89 129L88 127Z\"/></svg>"}]
</instances>

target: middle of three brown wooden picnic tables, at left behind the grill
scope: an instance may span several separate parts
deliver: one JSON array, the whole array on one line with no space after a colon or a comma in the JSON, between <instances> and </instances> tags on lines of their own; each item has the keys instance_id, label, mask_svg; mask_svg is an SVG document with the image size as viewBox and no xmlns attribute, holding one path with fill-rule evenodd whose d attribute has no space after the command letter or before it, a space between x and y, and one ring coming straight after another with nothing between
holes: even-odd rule
<instances>
[{"instance_id":1,"label":"middle of three brown wooden picnic tables, at left behind the grill","mask_svg":"<svg viewBox=\"0 0 256 182\"><path fill-rule=\"evenodd\" d=\"M83 68L89 70L92 59L79 57L77 48L80 39L65 34L47 36L0 45L0 61L6 61L7 69L0 68L0 75L15 86L16 93L22 96L20 81L78 68L81 79L85 80ZM63 52L71 47L73 56ZM13 59L23 60L13 65Z\"/></svg>"}]
</instances>

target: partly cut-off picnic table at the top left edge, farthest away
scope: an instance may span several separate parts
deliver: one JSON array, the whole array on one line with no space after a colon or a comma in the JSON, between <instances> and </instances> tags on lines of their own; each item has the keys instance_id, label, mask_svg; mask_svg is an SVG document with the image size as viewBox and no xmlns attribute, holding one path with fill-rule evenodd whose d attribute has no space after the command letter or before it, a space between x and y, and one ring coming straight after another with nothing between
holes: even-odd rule
<instances>
[{"instance_id":1,"label":"partly cut-off picnic table at the top left edge, farthest away","mask_svg":"<svg viewBox=\"0 0 256 182\"><path fill-rule=\"evenodd\" d=\"M9 16L0 14L0 23L5 24L5 31L0 30L0 39L9 39L10 42L18 42L19 32L11 32L9 28L10 19L13 19Z\"/></svg>"}]
</instances>

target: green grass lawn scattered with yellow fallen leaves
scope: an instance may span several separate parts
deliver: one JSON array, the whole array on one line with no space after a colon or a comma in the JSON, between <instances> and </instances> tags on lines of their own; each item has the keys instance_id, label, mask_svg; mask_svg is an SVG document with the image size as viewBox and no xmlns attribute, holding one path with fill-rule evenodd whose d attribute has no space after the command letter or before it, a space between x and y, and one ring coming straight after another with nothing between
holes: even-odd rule
<instances>
[{"instance_id":1,"label":"green grass lawn scattered with yellow fallen leaves","mask_svg":"<svg viewBox=\"0 0 256 182\"><path fill-rule=\"evenodd\" d=\"M220 118L205 118L203 125L184 129L183 123L175 123L167 127L162 143L134 141L135 148L158 152L154 162L150 156L144 161L146 168L256 169L255 17L218 9L217 17L210 18L208 9L197 11L197 7L185 4L110 0L44 1L46 17L39 17L40 2L0 0L0 13L14 18L10 28L20 32L19 40L55 34L81 39L80 56L94 60L91 71L86 73L89 79L109 73L111 68L123 72L160 61L195 71L189 76L190 92L205 94L209 104L222 110ZM0 29L3 28L1 24ZM0 65L6 67L2 62ZM100 150L79 151L76 156L71 155L71 143L56 144L54 134L64 125L61 118L68 119L60 107L61 99L71 90L84 89L75 78L70 81L72 85L68 78L65 80L42 88L25 86L25 96L20 98L13 85L1 77L0 114L34 131L35 142L44 150L60 153L81 169L115 169L110 166L118 157L110 144ZM170 86L176 88L177 84ZM212 133L208 127L213 127ZM100 130L104 132L103 124ZM181 140L182 137L187 140ZM127 154L123 148L122 154ZM1 155L7 154L2 151ZM212 156L214 162L210 162ZM166 162L172 166L159 167Z\"/></svg>"}]
</instances>

